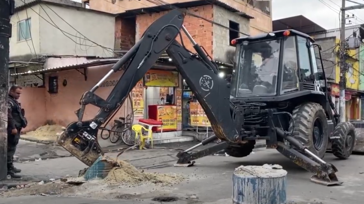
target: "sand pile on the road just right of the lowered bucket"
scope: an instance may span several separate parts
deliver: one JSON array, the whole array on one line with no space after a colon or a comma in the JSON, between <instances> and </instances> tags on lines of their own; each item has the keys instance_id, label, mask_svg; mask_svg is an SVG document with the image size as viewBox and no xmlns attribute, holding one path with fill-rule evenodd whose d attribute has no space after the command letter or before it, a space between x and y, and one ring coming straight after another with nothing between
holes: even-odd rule
<instances>
[{"instance_id":1,"label":"sand pile on the road just right of the lowered bucket","mask_svg":"<svg viewBox=\"0 0 364 204\"><path fill-rule=\"evenodd\" d=\"M110 185L154 183L162 186L170 186L172 184L178 184L185 179L182 175L178 174L143 173L125 161L118 161L118 163L120 167L113 168L104 179Z\"/></svg>"}]
</instances>

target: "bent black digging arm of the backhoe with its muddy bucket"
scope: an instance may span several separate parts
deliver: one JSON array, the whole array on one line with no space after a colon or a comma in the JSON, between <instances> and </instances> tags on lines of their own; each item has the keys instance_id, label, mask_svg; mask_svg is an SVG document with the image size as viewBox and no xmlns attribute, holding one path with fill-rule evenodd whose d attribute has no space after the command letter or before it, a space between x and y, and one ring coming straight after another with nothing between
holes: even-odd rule
<instances>
[{"instance_id":1,"label":"bent black digging arm of the backhoe with its muddy bucket","mask_svg":"<svg viewBox=\"0 0 364 204\"><path fill-rule=\"evenodd\" d=\"M199 56L191 54L179 42L184 15L180 10L172 10L156 20L145 31L141 40L128 51L103 77L95 87L83 94L81 108L76 111L78 121L69 124L59 137L61 146L74 154L87 165L91 165L102 154L97 143L99 127L107 121L125 102L128 94L147 71L155 64L161 54L166 51L176 64L182 77L186 80L197 101L201 104L210 120L216 137L224 141L235 141L238 133L230 113L230 83L217 75L217 68L202 52L198 44ZM186 32L190 40L193 39ZM183 44L183 42L181 42ZM205 60L203 60L205 58ZM128 63L127 66L125 64ZM125 70L106 100L94 94L99 85L111 74ZM85 106L92 104L100 108L91 120L82 121Z\"/></svg>"}]
</instances>

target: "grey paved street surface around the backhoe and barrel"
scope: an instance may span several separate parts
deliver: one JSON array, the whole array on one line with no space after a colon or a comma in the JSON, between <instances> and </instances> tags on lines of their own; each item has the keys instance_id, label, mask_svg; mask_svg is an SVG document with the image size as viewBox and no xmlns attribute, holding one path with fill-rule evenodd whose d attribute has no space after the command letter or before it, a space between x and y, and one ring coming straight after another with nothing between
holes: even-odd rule
<instances>
[{"instance_id":1,"label":"grey paved street surface around the backhoe and barrel","mask_svg":"<svg viewBox=\"0 0 364 204\"><path fill-rule=\"evenodd\" d=\"M158 147L156 147L158 148ZM170 147L172 148L172 147ZM178 148L178 147L176 147ZM174 204L189 203L216 203L230 204L232 195L232 172L240 165L263 165L275 163L283 166L288 171L287 196L288 199L298 204L362 204L364 199L364 164L363 155L352 155L350 159L339 161L328 153L325 160L333 163L339 169L337 173L344 185L336 187L325 187L311 183L310 173L299 168L284 156L274 150L256 150L246 158L234 158L231 156L207 156L197 160L192 167L173 167L177 151L173 149L132 150L123 153L120 158L129 160L137 168L145 169L147 172L179 173L183 175L196 175L197 177L183 181L173 187L156 188L150 186L139 186L136 188L123 188L101 190L100 187L88 189L87 192L78 196L93 197L93 199L113 199L115 195L124 198L123 195L131 195L128 199L115 200L90 200L91 198L62 198L62 197L16 197L1 198L0 204L12 203L39 203L46 204L52 201L54 204L70 203L155 203L152 198L161 195L176 196L180 198ZM108 153L116 156L116 152ZM61 165L60 165L61 164ZM164 164L164 165L161 165ZM18 168L23 169L23 175L31 175L37 180L49 180L50 178L61 178L66 175L77 176L79 170L86 167L75 157L54 158L41 161L30 161L17 163ZM152 166L155 166L154 168ZM84 184L85 185L85 184ZM190 199L195 194L197 198ZM92 196L91 196L92 195ZM97 196L96 196L97 195ZM112 196L110 196L112 195Z\"/></svg>"}]
</instances>

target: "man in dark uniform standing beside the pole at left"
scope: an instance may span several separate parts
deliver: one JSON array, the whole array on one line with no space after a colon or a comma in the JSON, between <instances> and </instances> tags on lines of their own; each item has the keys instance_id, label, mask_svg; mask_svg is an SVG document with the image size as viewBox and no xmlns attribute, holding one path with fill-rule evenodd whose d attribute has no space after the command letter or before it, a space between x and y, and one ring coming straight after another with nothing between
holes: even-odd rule
<instances>
[{"instance_id":1,"label":"man in dark uniform standing beside the pole at left","mask_svg":"<svg viewBox=\"0 0 364 204\"><path fill-rule=\"evenodd\" d=\"M21 178L20 175L16 174L20 173L21 170L13 165L13 156L19 143L20 130L27 125L24 109L16 101L19 99L21 92L22 87L13 85L10 87L7 97L7 175L10 175L11 178Z\"/></svg>"}]
</instances>

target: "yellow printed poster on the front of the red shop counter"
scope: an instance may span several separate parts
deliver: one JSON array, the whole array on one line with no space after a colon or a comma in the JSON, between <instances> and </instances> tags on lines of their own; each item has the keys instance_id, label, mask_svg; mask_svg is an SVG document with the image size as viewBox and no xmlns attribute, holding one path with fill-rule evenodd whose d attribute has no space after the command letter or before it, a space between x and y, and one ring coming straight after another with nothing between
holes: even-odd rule
<instances>
[{"instance_id":1,"label":"yellow printed poster on the front of the red shop counter","mask_svg":"<svg viewBox=\"0 0 364 204\"><path fill-rule=\"evenodd\" d=\"M163 129L177 129L177 106L158 105L158 120L163 123ZM158 128L158 130L162 130Z\"/></svg>"}]
</instances>

